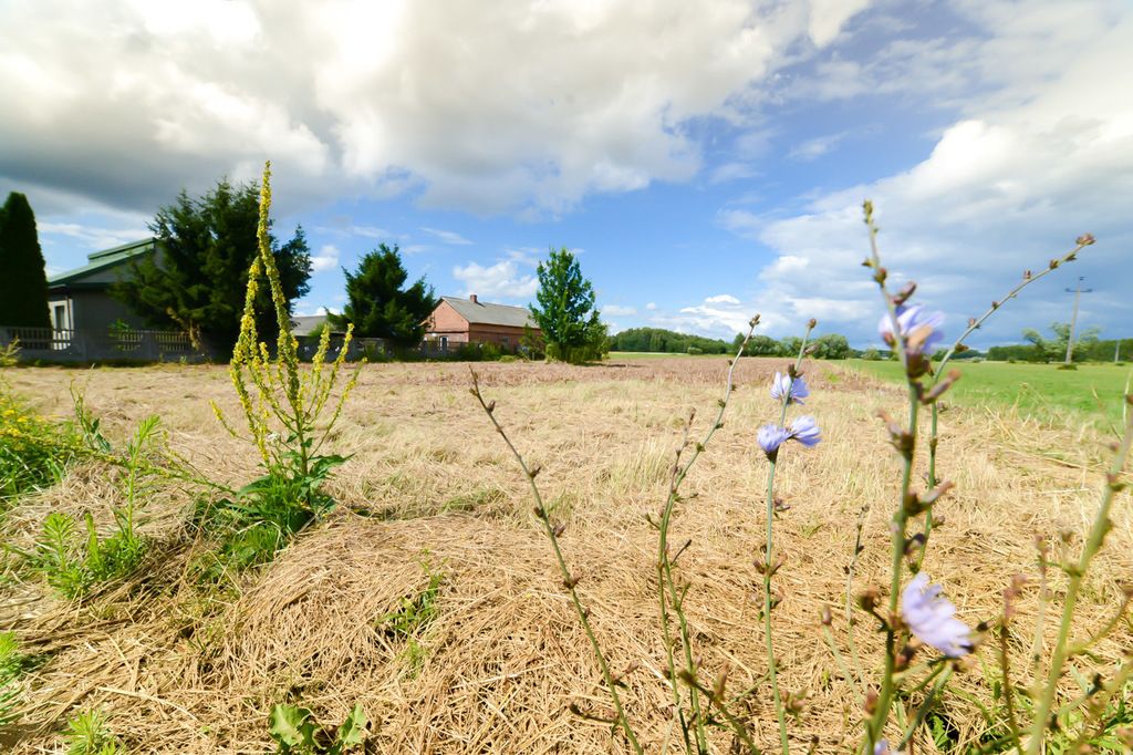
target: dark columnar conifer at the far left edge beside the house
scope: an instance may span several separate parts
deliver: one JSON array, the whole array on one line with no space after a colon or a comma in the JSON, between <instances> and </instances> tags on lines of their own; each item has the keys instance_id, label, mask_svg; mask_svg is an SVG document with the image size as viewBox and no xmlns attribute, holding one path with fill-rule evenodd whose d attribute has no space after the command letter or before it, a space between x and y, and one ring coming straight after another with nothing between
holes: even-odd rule
<instances>
[{"instance_id":1,"label":"dark columnar conifer at the far left edge beside the house","mask_svg":"<svg viewBox=\"0 0 1133 755\"><path fill-rule=\"evenodd\" d=\"M0 209L0 325L51 326L35 213L18 192Z\"/></svg>"}]
</instances>

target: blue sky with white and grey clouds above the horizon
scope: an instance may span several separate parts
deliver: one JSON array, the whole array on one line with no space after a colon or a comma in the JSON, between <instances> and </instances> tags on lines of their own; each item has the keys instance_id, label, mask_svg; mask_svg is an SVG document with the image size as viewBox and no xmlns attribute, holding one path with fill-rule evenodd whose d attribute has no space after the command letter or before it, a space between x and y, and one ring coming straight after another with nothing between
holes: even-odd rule
<instances>
[{"instance_id":1,"label":"blue sky with white and grey clouds above the horizon","mask_svg":"<svg viewBox=\"0 0 1133 755\"><path fill-rule=\"evenodd\" d=\"M273 163L310 294L399 245L437 295L534 300L573 249L612 331L879 343L861 203L971 339L1133 336L1130 0L0 0L0 193L49 274Z\"/></svg>"}]
</instances>

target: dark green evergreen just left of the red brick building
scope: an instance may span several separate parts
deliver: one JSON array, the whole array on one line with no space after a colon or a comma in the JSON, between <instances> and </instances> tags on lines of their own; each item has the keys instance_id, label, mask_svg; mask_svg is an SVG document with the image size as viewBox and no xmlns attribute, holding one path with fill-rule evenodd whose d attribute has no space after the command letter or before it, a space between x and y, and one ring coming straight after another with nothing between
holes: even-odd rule
<instances>
[{"instance_id":1,"label":"dark green evergreen just left of the red brick building","mask_svg":"<svg viewBox=\"0 0 1133 755\"><path fill-rule=\"evenodd\" d=\"M398 245L385 244L368 253L347 277L347 306L341 315L332 315L340 326L353 323L355 334L385 338L400 347L420 343L425 320L436 308L433 287L425 278L404 288L409 273L401 263Z\"/></svg>"}]
</instances>

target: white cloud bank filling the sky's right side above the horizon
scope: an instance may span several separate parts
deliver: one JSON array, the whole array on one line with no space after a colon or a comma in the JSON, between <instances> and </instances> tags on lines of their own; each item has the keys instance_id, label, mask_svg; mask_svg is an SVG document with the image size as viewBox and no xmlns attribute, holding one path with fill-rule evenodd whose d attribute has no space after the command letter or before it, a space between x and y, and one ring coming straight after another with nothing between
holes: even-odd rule
<instances>
[{"instance_id":1,"label":"white cloud bank filling the sky's right side above the horizon","mask_svg":"<svg viewBox=\"0 0 1133 755\"><path fill-rule=\"evenodd\" d=\"M1002 3L981 3L979 12L995 18L997 8ZM1004 25L1003 35L982 46L965 43L971 65L993 69L1006 52L1031 50L1028 54L1038 59L1047 50L1065 50L1083 29L1093 34L1088 45L1062 58L1057 70L1037 60L1047 75L1042 82L1011 62L1008 74L1019 77L1013 94L981 97L981 108L968 109L945 128L931 153L911 169L823 194L790 217L722 211L722 224L757 237L777 254L759 273L759 300L775 303L784 317L817 316L860 340L875 340L880 303L860 266L868 251L861 201L870 197L883 229L884 261L895 280L902 273L914 277L918 297L949 314L952 332L986 309L1025 268L1043 266L1083 231L1100 243L1083 253L1074 274L1105 275L1104 290L1087 306L1119 312L1125 306L1119 291L1133 286L1133 265L1122 262L1133 243L1126 221L1133 195L1133 90L1114 87L1111 75L1133 68L1133 17L1101 29L1106 3L1082 8L1092 12L1074 19L1059 12L1029 15ZM1032 50L1033 39L1049 45ZM1026 96L1017 96L1020 91ZM1042 281L1029 290L1025 304L989 322L982 340L1019 339L1024 326L1068 319L1063 282ZM1088 320L1091 312L1083 315Z\"/></svg>"}]
</instances>

